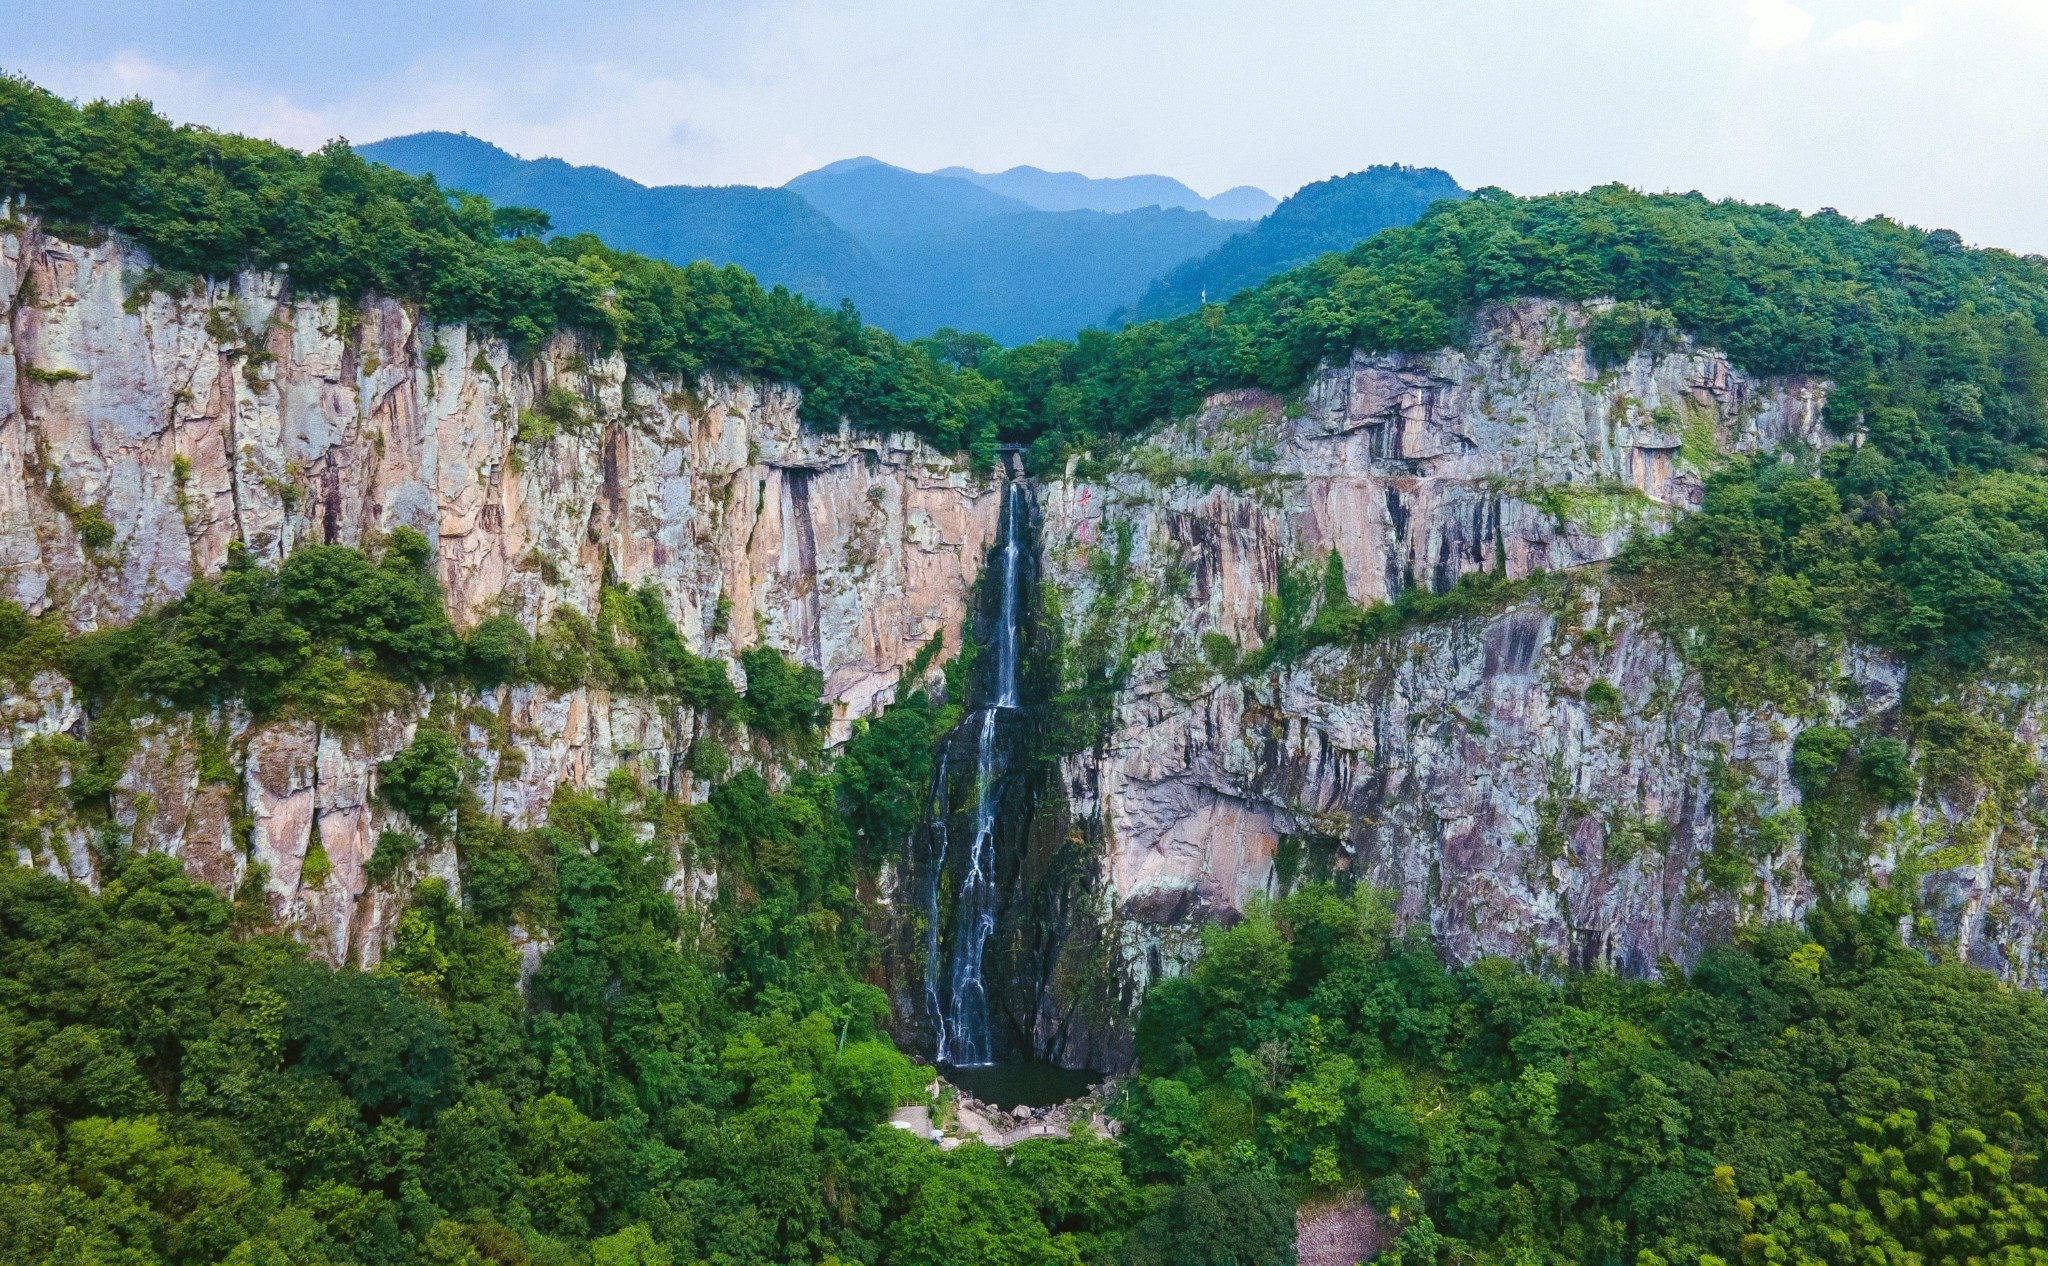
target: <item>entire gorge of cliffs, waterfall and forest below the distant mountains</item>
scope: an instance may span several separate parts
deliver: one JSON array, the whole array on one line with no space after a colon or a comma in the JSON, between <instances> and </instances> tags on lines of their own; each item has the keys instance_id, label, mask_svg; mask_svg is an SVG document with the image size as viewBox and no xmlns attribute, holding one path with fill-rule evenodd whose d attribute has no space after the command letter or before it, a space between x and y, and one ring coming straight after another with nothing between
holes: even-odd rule
<instances>
[{"instance_id":1,"label":"entire gorge of cliffs, waterfall and forest below the distant mountains","mask_svg":"<svg viewBox=\"0 0 2048 1266\"><path fill-rule=\"evenodd\" d=\"M0 123L0 1262L2044 1246L2040 260L1481 191L905 344Z\"/></svg>"}]
</instances>

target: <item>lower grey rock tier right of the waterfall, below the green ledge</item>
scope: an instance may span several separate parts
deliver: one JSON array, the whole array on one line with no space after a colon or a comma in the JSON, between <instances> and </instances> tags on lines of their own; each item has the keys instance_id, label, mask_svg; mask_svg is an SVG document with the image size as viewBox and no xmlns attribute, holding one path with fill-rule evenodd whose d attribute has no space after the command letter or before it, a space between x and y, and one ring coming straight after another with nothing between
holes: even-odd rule
<instances>
[{"instance_id":1,"label":"lower grey rock tier right of the waterfall, below the green ledge","mask_svg":"<svg viewBox=\"0 0 2048 1266\"><path fill-rule=\"evenodd\" d=\"M1333 873L1395 893L1458 961L1647 975L1812 903L1788 815L1798 731L1901 731L1903 670L1878 656L1839 670L1825 715L1731 715L1667 639L1597 586L1573 588L1386 647L1321 649L1260 682L1176 694L1149 674L1069 778L1104 838L1108 920L1135 981L1184 965L1200 924ZM2040 701L1997 703L2048 758ZM1876 824L1884 848L1864 883L1909 869L1927 940L2040 985L2040 807L2038 789L2001 805L1980 787L1909 805Z\"/></svg>"}]
</instances>

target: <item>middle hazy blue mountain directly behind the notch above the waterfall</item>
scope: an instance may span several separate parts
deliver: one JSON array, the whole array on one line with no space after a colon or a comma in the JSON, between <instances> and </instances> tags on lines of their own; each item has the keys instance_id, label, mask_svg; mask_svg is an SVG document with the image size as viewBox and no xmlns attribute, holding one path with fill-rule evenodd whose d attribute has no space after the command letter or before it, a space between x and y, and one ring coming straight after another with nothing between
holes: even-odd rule
<instances>
[{"instance_id":1,"label":"middle hazy blue mountain directly behind the notch above the waterfall","mask_svg":"<svg viewBox=\"0 0 2048 1266\"><path fill-rule=\"evenodd\" d=\"M1096 326L1149 279L1200 256L1235 225L1200 211L1022 211L924 234L868 240L897 283L891 330L942 326L1004 344Z\"/></svg>"}]
</instances>

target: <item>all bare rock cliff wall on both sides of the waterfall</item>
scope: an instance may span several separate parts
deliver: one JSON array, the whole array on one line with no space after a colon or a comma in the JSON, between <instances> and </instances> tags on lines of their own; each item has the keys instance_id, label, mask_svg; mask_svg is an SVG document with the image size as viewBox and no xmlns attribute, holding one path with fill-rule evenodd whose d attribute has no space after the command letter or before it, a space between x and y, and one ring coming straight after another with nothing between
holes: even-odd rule
<instances>
[{"instance_id":1,"label":"all bare rock cliff wall on both sides of the waterfall","mask_svg":"<svg viewBox=\"0 0 2048 1266\"><path fill-rule=\"evenodd\" d=\"M969 760L997 709L971 711L944 762L987 791L946 793L938 813L954 840L963 813L995 819L995 1053L1126 1067L1143 987L1186 971L1204 926L1317 877L1386 891L1456 961L1688 965L1815 899L1798 832L1759 834L1798 805L1798 733L1901 729L1905 668L1858 647L1800 715L1712 707L1683 647L1610 584L1602 563L1696 508L1726 455L1855 438L1821 424L1825 381L1757 379L1679 336L1595 367L1597 305L1493 307L1462 348L1354 354L1286 397L1223 393L1028 477L1016 455L977 471L909 436L805 426L786 385L635 377L573 336L514 356L395 301L295 297L279 275L180 291L119 240L35 221L0 236L0 287L14 295L0 596L68 629L125 623L236 549L276 561L412 526L459 629L588 617L606 586L651 584L735 684L756 645L817 668L829 744L909 688L942 688L936 668L901 680L934 637L942 658L975 645L981 662L1016 637L1014 744ZM1020 578L991 586L1006 545L1024 547ZM1360 604L1464 574L1548 584L1239 674L1282 588L1321 578L1331 553ZM1049 701L1100 682L1092 727L1051 733ZM84 731L59 674L0 688L8 776L31 772L39 735ZM473 703L475 789L506 824L616 770L709 791L688 709L532 684ZM399 826L377 764L430 705L348 733L236 711L150 719L113 821L223 891L260 867L274 918L319 957L375 963L410 883L459 881L449 846L393 881L365 873ZM2048 754L2025 682L1987 680L1972 707ZM233 754L227 778L201 760L213 742ZM1864 883L1909 875L1929 912L1917 942L2040 987L2038 809L2036 789L1923 795L1878 824ZM920 912L950 883L932 834L905 840L872 903L897 946L899 1035L924 1053L938 1041L924 932L940 916ZM307 869L313 850L326 864ZM1716 850L1751 858L1739 883L1706 875ZM102 852L53 813L18 860L92 885ZM684 903L717 889L711 873L674 881Z\"/></svg>"}]
</instances>

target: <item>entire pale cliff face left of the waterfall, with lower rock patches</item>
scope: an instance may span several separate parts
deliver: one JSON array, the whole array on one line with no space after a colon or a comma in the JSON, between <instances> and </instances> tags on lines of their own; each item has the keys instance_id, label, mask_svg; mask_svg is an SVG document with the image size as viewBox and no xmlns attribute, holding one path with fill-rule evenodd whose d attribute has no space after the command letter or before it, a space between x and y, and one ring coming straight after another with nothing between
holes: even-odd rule
<instances>
[{"instance_id":1,"label":"entire pale cliff face left of the waterfall, with lower rock patches","mask_svg":"<svg viewBox=\"0 0 2048 1266\"><path fill-rule=\"evenodd\" d=\"M236 543L279 559L414 526L436 545L459 627L594 615L604 584L653 584L694 651L733 664L764 643L819 668L834 737L893 697L934 635L958 645L999 512L965 461L809 430L786 387L629 381L571 338L516 358L399 303L293 299L279 277L162 285L115 242L35 225L0 238L0 287L16 297L0 330L0 596L31 613L117 625L217 572ZM393 826L375 766L426 703L346 735L217 717L209 742L244 754L225 783L201 774L188 723L145 723L117 824L223 887L266 864L281 916L336 959L375 957L389 893L369 891L362 862ZM686 711L530 686L487 705L471 740L485 807L508 821L618 766L688 778ZM37 733L84 727L55 674L4 715L0 768ZM311 844L328 875L309 885ZM57 824L39 860L90 879L92 840Z\"/></svg>"}]
</instances>

